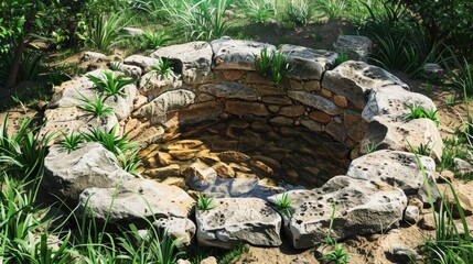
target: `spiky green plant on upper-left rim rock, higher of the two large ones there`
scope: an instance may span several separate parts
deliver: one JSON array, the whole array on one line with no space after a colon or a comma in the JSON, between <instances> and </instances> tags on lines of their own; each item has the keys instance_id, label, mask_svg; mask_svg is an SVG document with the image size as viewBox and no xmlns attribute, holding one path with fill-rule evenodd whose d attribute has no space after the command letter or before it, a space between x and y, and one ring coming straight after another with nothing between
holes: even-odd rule
<instances>
[{"instance_id":1,"label":"spiky green plant on upper-left rim rock, higher of the two large ones there","mask_svg":"<svg viewBox=\"0 0 473 264\"><path fill-rule=\"evenodd\" d=\"M114 72L103 72L100 77L86 76L92 80L97 89L106 97L125 96L125 86L133 84L136 80L130 76L116 74Z\"/></svg>"}]
</instances>

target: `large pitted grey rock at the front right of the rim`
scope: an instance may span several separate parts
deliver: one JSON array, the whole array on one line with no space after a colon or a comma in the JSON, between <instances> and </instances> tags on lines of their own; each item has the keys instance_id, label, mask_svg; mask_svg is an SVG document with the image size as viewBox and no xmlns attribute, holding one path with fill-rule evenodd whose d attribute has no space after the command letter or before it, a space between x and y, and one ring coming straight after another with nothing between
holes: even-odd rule
<instances>
[{"instance_id":1,"label":"large pitted grey rock at the front right of the rim","mask_svg":"<svg viewBox=\"0 0 473 264\"><path fill-rule=\"evenodd\" d=\"M312 190L287 193L292 204L283 216L284 231L295 249L308 249L326 238L336 205L332 238L386 231L402 219L407 198L402 190L383 182L336 176ZM281 195L269 197L276 204Z\"/></svg>"}]
</instances>

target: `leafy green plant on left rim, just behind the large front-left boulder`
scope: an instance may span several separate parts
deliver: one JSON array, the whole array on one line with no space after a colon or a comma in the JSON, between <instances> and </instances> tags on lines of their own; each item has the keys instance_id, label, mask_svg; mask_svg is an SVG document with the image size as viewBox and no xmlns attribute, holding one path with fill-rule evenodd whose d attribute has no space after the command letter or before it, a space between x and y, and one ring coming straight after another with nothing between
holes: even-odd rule
<instances>
[{"instance_id":1,"label":"leafy green plant on left rim, just behind the large front-left boulder","mask_svg":"<svg viewBox=\"0 0 473 264\"><path fill-rule=\"evenodd\" d=\"M99 128L89 129L88 133L84 134L84 139L87 142L98 142L105 146L108 151L112 152L116 156L126 154L129 150L135 147L135 142L128 142L127 135L118 136L118 127L114 125L111 130L104 131Z\"/></svg>"}]
</instances>

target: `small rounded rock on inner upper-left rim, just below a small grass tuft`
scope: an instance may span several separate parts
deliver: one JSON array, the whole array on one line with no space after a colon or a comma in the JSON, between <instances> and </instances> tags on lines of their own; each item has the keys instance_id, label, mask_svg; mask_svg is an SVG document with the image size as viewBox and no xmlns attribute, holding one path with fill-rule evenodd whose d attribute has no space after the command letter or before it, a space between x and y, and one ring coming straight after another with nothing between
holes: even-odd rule
<instances>
[{"instance_id":1,"label":"small rounded rock on inner upper-left rim, just below a small grass tuft","mask_svg":"<svg viewBox=\"0 0 473 264\"><path fill-rule=\"evenodd\" d=\"M180 80L179 77L173 75L164 77L153 72L141 76L138 84L140 94L147 96L148 100L152 100L165 91L182 87L182 80Z\"/></svg>"}]
</instances>

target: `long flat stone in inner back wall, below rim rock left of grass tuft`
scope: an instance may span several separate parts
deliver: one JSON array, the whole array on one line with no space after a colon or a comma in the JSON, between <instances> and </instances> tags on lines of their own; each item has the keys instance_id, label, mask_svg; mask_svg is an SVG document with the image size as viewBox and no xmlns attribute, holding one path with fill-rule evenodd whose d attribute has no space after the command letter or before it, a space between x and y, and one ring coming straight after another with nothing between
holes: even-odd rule
<instances>
[{"instance_id":1,"label":"long flat stone in inner back wall, below rim rock left of grass tuft","mask_svg":"<svg viewBox=\"0 0 473 264\"><path fill-rule=\"evenodd\" d=\"M251 88L232 81L223 81L217 85L202 85L198 87L198 90L223 98L243 99L248 101L256 101L257 99L257 95Z\"/></svg>"}]
</instances>

